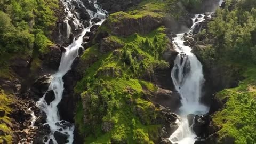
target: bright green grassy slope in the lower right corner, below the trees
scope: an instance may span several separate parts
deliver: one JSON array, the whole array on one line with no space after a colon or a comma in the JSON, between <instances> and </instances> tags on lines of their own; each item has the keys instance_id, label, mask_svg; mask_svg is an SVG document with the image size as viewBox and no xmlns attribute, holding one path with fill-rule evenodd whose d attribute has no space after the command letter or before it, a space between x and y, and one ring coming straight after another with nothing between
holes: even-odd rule
<instances>
[{"instance_id":1,"label":"bright green grassy slope in the lower right corner, below the trees","mask_svg":"<svg viewBox=\"0 0 256 144\"><path fill-rule=\"evenodd\" d=\"M246 66L243 66L246 67ZM213 115L215 125L221 127L219 142L235 138L236 144L256 142L256 68L249 66L244 73L245 80L234 89L225 89L217 94L220 100L228 99L221 111Z\"/></svg>"}]
</instances>

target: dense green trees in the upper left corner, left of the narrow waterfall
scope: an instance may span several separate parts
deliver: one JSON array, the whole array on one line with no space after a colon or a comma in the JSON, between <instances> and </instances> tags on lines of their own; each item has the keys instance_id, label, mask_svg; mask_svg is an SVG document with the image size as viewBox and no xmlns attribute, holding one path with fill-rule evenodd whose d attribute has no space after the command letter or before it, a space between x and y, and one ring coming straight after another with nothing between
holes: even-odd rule
<instances>
[{"instance_id":1,"label":"dense green trees in the upper left corner, left of the narrow waterfall","mask_svg":"<svg viewBox=\"0 0 256 144\"><path fill-rule=\"evenodd\" d=\"M57 18L59 1L3 0L0 2L0 63L10 55L45 52Z\"/></svg>"}]
</instances>

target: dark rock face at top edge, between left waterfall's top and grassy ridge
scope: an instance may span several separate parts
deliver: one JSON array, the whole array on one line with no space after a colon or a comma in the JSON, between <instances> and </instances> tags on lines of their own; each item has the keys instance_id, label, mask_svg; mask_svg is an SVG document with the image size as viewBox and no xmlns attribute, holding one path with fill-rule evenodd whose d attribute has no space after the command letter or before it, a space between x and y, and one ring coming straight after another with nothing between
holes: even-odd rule
<instances>
[{"instance_id":1,"label":"dark rock face at top edge, between left waterfall's top and grassy ridge","mask_svg":"<svg viewBox=\"0 0 256 144\"><path fill-rule=\"evenodd\" d=\"M131 1L125 1L125 0L99 0L98 1L101 5L102 8L109 13L114 13L118 11L125 11L129 7L137 5L138 3L141 2L141 0L131 0Z\"/></svg>"}]
</instances>

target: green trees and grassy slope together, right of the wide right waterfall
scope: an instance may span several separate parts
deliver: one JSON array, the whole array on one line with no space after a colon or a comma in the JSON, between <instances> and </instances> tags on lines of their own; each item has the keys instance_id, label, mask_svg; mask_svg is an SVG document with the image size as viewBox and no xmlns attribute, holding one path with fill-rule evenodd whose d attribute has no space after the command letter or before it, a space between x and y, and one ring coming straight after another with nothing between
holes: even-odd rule
<instances>
[{"instance_id":1,"label":"green trees and grassy slope together, right of the wide right waterfall","mask_svg":"<svg viewBox=\"0 0 256 144\"><path fill-rule=\"evenodd\" d=\"M218 9L208 29L197 35L202 46L201 59L211 65L241 69L245 80L234 89L217 93L227 100L225 106L213 115L214 125L220 128L218 143L234 138L235 143L255 143L255 56L256 56L256 1L226 1L225 9ZM234 69L230 69L231 71ZM227 71L227 73L229 73Z\"/></svg>"}]
</instances>

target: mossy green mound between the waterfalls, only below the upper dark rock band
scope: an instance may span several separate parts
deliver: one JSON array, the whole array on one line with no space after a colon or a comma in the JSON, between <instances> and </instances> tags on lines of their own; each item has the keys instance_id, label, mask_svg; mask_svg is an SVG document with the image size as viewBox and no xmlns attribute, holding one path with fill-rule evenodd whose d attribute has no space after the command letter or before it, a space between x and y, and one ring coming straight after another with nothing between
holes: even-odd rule
<instances>
[{"instance_id":1,"label":"mossy green mound between the waterfalls, only below the upper dark rock band","mask_svg":"<svg viewBox=\"0 0 256 144\"><path fill-rule=\"evenodd\" d=\"M163 32L164 27L160 27L147 36L111 36L108 38L125 44L124 47L102 54L94 45L84 52L81 63L97 59L93 65L86 67L83 79L75 89L77 93L82 93L76 124L86 135L85 143L157 141L161 125L157 125L155 120L159 117L159 109L142 99L145 92L157 89L140 77L153 73L155 67L169 67L161 60L167 44ZM81 67L83 70L84 67ZM113 126L106 133L102 131L105 122Z\"/></svg>"}]
</instances>

